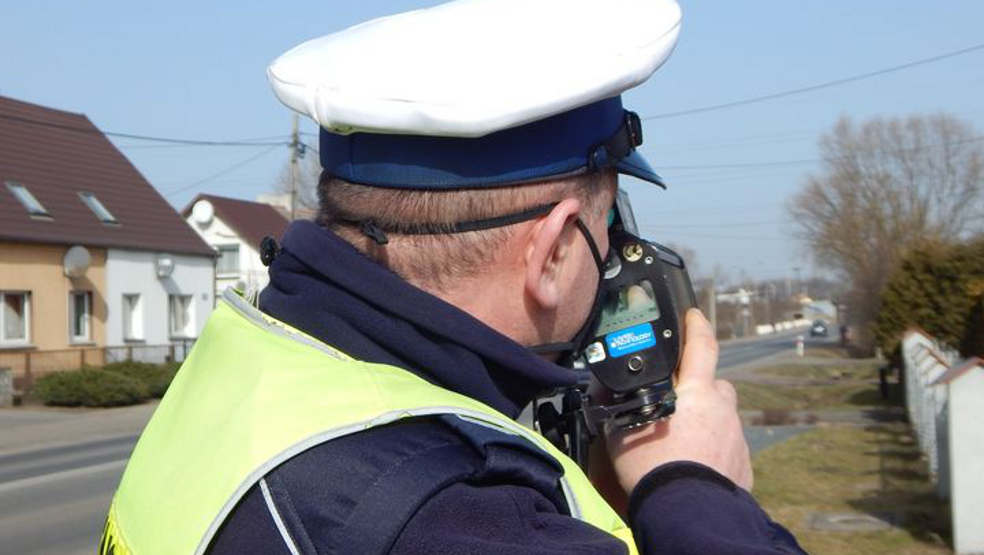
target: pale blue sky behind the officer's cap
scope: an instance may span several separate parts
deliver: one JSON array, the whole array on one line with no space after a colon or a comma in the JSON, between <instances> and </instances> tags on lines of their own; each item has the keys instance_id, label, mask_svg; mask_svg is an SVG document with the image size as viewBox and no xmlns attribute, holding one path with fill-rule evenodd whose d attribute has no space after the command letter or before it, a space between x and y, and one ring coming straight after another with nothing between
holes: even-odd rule
<instances>
[{"instance_id":1,"label":"pale blue sky behind the officer's cap","mask_svg":"<svg viewBox=\"0 0 984 555\"><path fill-rule=\"evenodd\" d=\"M0 9L0 95L85 113L104 131L281 140L290 113L266 82L270 61L306 39L437 3L8 2ZM676 52L625 95L643 117L984 43L979 0L681 3ZM732 276L782 277L802 266L805 277L812 263L790 236L783 204L816 170L819 135L842 115L940 111L984 132L981 98L984 50L977 50L815 92L652 119L642 150L670 189L625 187L648 238L694 249L702 273L718 264ZM302 128L315 131L310 122ZM288 156L280 146L114 142L179 209L199 192L255 199L271 189Z\"/></svg>"}]
</instances>

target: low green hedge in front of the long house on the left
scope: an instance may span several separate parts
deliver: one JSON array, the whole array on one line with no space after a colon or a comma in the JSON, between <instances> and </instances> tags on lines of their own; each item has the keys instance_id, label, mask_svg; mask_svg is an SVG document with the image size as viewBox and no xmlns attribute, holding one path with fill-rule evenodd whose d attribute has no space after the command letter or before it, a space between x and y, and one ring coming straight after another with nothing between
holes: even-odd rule
<instances>
[{"instance_id":1,"label":"low green hedge in front of the long house on the left","mask_svg":"<svg viewBox=\"0 0 984 555\"><path fill-rule=\"evenodd\" d=\"M179 366L124 361L58 372L38 379L33 393L46 405L62 407L134 405L163 397Z\"/></svg>"}]
</instances>

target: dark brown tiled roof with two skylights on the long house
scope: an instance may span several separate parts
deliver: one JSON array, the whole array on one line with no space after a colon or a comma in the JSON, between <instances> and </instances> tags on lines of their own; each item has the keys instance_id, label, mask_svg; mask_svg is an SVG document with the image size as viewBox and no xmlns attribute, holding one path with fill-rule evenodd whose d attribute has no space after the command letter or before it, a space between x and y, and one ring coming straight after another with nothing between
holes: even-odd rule
<instances>
[{"instance_id":1,"label":"dark brown tiled roof with two skylights on the long house","mask_svg":"<svg viewBox=\"0 0 984 555\"><path fill-rule=\"evenodd\" d=\"M32 217L8 182L26 187L51 217ZM100 221L82 192L118 223ZM3 96L0 241L215 255L89 118Z\"/></svg>"}]
</instances>

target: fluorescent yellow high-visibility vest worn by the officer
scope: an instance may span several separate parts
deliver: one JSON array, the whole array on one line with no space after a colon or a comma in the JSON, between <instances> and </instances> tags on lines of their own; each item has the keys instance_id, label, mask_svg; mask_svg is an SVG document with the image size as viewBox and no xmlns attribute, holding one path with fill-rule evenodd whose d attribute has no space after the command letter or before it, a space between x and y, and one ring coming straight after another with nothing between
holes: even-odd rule
<instances>
[{"instance_id":1,"label":"fluorescent yellow high-visibility vest worn by the officer","mask_svg":"<svg viewBox=\"0 0 984 555\"><path fill-rule=\"evenodd\" d=\"M563 467L571 516L636 552L628 527L543 436L405 370L354 360L227 292L130 457L100 553L203 553L243 495L280 463L337 437L433 414L526 438Z\"/></svg>"}]
</instances>

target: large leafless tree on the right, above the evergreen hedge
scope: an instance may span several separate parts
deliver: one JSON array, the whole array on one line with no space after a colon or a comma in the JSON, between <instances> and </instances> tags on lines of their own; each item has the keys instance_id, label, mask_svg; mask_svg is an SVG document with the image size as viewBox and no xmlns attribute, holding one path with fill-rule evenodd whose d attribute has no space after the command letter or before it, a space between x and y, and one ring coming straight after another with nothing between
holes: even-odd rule
<instances>
[{"instance_id":1,"label":"large leafless tree on the right, above the evergreen hedge","mask_svg":"<svg viewBox=\"0 0 984 555\"><path fill-rule=\"evenodd\" d=\"M924 239L965 237L982 222L984 142L953 116L841 119L824 161L788 204L818 264L842 275L866 329L901 255Z\"/></svg>"}]
</instances>

